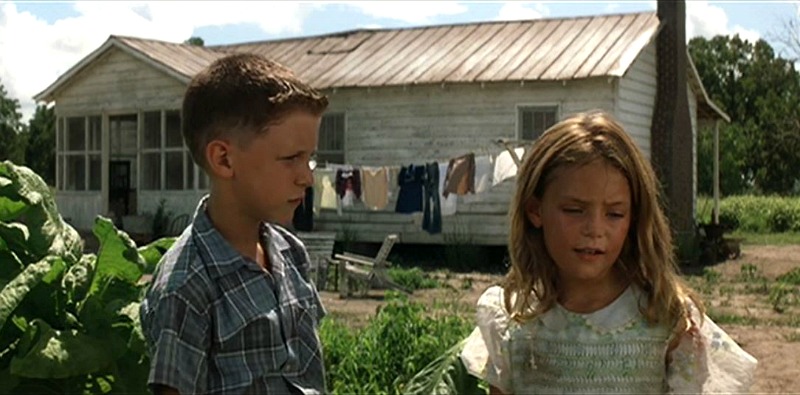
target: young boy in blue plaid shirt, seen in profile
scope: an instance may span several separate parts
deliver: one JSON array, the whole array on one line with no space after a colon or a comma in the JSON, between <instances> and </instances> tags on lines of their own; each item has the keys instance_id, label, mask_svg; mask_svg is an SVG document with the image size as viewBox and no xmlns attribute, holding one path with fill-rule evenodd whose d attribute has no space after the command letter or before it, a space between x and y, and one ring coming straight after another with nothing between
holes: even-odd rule
<instances>
[{"instance_id":1,"label":"young boy in blue plaid shirt, seen in profile","mask_svg":"<svg viewBox=\"0 0 800 395\"><path fill-rule=\"evenodd\" d=\"M210 194L141 305L156 394L325 392L325 314L285 228L313 183L327 98L251 54L219 59L183 99L182 132Z\"/></svg>"}]
</instances>

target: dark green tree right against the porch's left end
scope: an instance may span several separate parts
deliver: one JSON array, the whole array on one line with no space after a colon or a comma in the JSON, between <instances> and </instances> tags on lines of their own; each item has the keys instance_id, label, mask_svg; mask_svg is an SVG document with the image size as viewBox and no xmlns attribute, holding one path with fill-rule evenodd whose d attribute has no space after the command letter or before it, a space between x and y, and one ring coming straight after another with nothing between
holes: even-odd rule
<instances>
[{"instance_id":1,"label":"dark green tree right against the porch's left end","mask_svg":"<svg viewBox=\"0 0 800 395\"><path fill-rule=\"evenodd\" d=\"M28 146L25 161L28 167L41 176L47 185L56 182L56 115L53 107L36 107L28 123Z\"/></svg>"}]
</instances>

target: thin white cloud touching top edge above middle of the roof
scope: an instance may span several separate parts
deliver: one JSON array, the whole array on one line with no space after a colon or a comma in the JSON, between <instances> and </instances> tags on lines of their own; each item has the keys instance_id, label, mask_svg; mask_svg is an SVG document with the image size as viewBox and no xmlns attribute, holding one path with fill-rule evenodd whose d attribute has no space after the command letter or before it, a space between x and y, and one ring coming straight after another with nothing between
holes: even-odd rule
<instances>
[{"instance_id":1,"label":"thin white cloud touching top edge above middle of the roof","mask_svg":"<svg viewBox=\"0 0 800 395\"><path fill-rule=\"evenodd\" d=\"M457 1L346 1L374 18L394 19L413 24L430 23L434 17L458 15L468 11Z\"/></svg>"}]
</instances>

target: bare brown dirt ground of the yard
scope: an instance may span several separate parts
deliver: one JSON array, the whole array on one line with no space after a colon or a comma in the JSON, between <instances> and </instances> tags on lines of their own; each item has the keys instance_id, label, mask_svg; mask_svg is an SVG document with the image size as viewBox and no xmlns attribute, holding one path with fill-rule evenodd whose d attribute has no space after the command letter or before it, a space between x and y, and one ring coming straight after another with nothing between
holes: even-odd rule
<instances>
[{"instance_id":1,"label":"bare brown dirt ground of the yard","mask_svg":"<svg viewBox=\"0 0 800 395\"><path fill-rule=\"evenodd\" d=\"M798 267L800 246L744 246L739 259L708 266L705 275L687 275L711 315L723 318L717 323L758 359L752 393L800 394L800 301L790 299L782 313L769 301L775 278ZM411 299L459 314L471 314L483 290L501 278L480 273L432 275L449 286L415 291ZM795 292L800 294L797 286ZM321 294L328 312L353 326L364 325L384 303L382 292L375 290L365 298Z\"/></svg>"}]
</instances>

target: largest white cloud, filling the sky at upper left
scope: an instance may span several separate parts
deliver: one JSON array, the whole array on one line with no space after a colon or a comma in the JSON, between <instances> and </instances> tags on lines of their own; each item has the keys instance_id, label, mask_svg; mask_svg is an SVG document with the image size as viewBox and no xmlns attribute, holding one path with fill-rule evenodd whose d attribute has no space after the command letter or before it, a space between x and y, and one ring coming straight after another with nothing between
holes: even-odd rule
<instances>
[{"instance_id":1,"label":"largest white cloud, filling the sky at upper left","mask_svg":"<svg viewBox=\"0 0 800 395\"><path fill-rule=\"evenodd\" d=\"M76 2L77 16L53 23L14 3L0 3L0 82L20 101L23 119L35 109L33 96L54 82L109 35L171 42L198 27L250 23L268 34L300 33L322 3L298 2Z\"/></svg>"}]
</instances>

